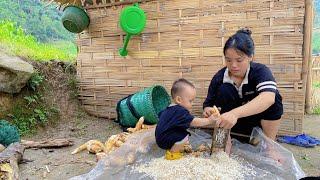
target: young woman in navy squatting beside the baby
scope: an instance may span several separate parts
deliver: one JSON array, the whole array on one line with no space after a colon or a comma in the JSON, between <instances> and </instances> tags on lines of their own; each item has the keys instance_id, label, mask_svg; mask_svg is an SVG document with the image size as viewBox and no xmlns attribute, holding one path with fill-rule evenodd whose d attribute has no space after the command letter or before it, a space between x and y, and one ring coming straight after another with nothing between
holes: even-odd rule
<instances>
[{"instance_id":1,"label":"young woman in navy squatting beside the baby","mask_svg":"<svg viewBox=\"0 0 320 180\"><path fill-rule=\"evenodd\" d=\"M221 108L217 126L231 129L231 137L248 143L252 129L258 126L274 140L283 114L282 98L270 69L252 62L251 31L237 31L225 43L223 53L226 67L211 80L204 116L210 116L216 105Z\"/></svg>"}]
</instances>

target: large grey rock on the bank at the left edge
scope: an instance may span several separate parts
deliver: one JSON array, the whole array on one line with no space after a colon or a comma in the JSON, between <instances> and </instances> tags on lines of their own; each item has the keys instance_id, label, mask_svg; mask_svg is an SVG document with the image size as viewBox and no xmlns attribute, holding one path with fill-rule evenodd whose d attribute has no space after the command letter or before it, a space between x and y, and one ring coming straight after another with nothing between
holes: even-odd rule
<instances>
[{"instance_id":1,"label":"large grey rock on the bank at the left edge","mask_svg":"<svg viewBox=\"0 0 320 180\"><path fill-rule=\"evenodd\" d=\"M0 52L0 92L20 92L33 72L31 64Z\"/></svg>"}]
</instances>

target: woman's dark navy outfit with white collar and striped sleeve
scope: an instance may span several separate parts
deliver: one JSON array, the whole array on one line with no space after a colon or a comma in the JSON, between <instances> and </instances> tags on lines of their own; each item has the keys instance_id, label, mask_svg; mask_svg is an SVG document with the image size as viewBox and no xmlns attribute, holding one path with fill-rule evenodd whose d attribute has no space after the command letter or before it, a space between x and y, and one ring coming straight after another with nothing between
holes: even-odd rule
<instances>
[{"instance_id":1,"label":"woman's dark navy outfit with white collar and striped sleeve","mask_svg":"<svg viewBox=\"0 0 320 180\"><path fill-rule=\"evenodd\" d=\"M261 120L278 120L283 114L282 97L277 90L277 83L270 69L259 63L250 62L245 78L239 87L230 78L226 67L219 70L211 80L208 95L203 103L203 108L216 105L221 108L221 113L228 112L251 101L261 92L274 92L275 103L259 114L238 119L231 132L250 136L252 129L261 126ZM236 137L242 142L248 138Z\"/></svg>"}]
</instances>

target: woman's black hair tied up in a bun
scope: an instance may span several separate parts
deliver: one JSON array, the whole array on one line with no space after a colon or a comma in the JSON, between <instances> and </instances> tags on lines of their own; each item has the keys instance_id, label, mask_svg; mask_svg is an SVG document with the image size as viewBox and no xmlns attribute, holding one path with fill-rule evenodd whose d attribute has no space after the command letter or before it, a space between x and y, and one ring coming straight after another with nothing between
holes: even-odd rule
<instances>
[{"instance_id":1,"label":"woman's black hair tied up in a bun","mask_svg":"<svg viewBox=\"0 0 320 180\"><path fill-rule=\"evenodd\" d=\"M223 54L226 55L226 51L229 48L234 48L243 52L247 56L251 57L254 54L254 42L251 38L251 31L249 29L240 29L229 37L223 48Z\"/></svg>"}]
</instances>

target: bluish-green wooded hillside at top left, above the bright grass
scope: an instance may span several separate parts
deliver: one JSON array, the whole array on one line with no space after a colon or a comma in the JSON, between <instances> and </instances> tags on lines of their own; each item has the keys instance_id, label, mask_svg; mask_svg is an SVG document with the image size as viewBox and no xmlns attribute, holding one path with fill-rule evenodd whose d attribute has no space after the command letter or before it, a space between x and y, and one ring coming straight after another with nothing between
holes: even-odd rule
<instances>
[{"instance_id":1,"label":"bluish-green wooded hillside at top left, above the bright grass","mask_svg":"<svg viewBox=\"0 0 320 180\"><path fill-rule=\"evenodd\" d=\"M55 3L40 0L1 0L0 19L16 22L26 34L40 42L73 41L75 35L61 23L62 12Z\"/></svg>"}]
</instances>

